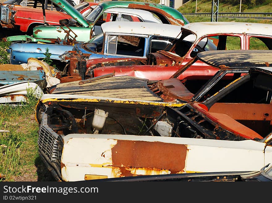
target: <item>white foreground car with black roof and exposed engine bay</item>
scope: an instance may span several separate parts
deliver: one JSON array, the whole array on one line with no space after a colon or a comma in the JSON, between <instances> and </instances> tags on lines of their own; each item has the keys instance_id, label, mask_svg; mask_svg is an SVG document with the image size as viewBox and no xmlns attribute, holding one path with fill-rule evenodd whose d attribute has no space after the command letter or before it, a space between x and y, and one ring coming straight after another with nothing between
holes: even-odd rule
<instances>
[{"instance_id":1,"label":"white foreground car with black roof and exposed engine bay","mask_svg":"<svg viewBox=\"0 0 272 203\"><path fill-rule=\"evenodd\" d=\"M64 181L259 170L272 162L271 54L199 53L222 69L195 95L200 99L176 78L57 84L36 107L40 155ZM164 102L179 93L192 100Z\"/></svg>"}]
</instances>

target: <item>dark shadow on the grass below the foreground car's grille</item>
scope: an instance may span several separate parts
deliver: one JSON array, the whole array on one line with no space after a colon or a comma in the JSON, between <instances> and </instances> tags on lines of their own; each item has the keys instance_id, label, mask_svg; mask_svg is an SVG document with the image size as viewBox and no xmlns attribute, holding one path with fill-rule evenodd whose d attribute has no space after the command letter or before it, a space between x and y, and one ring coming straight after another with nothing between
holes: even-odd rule
<instances>
[{"instance_id":1,"label":"dark shadow on the grass below the foreground car's grille","mask_svg":"<svg viewBox=\"0 0 272 203\"><path fill-rule=\"evenodd\" d=\"M44 162L41 160L40 156L35 159L35 166L37 168L37 181L56 181L52 173L46 168Z\"/></svg>"}]
</instances>

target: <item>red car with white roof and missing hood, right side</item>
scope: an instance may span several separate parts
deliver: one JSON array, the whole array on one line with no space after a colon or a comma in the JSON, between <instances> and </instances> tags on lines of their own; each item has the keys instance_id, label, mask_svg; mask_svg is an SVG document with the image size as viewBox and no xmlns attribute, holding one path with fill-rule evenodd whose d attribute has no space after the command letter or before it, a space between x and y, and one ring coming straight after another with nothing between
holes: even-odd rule
<instances>
[{"instance_id":1,"label":"red car with white roof and missing hood, right side","mask_svg":"<svg viewBox=\"0 0 272 203\"><path fill-rule=\"evenodd\" d=\"M115 76L130 75L151 80L167 79L190 61L197 53L209 50L208 39L216 45L215 50L271 50L272 26L262 23L244 22L195 22L181 27L182 35L169 51L158 51L142 59L91 59L87 64L86 77L96 77L115 71ZM195 38L194 43L186 37ZM201 43L201 44L200 44ZM79 63L82 58L79 60ZM73 60L73 59L71 59ZM110 67L107 67L110 66ZM189 70L192 70L190 73ZM186 75L179 79L207 79L214 75L215 69L201 61L195 62Z\"/></svg>"}]
</instances>

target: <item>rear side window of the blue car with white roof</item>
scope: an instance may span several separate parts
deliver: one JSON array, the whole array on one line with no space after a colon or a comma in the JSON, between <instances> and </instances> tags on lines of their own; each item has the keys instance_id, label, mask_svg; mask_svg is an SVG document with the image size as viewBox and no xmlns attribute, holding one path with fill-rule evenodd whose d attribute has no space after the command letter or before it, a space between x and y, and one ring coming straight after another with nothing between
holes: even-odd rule
<instances>
[{"instance_id":1,"label":"rear side window of the blue car with white roof","mask_svg":"<svg viewBox=\"0 0 272 203\"><path fill-rule=\"evenodd\" d=\"M159 50L169 51L173 44L175 44L177 39L168 37L151 37L150 39L150 53L155 53Z\"/></svg>"}]
</instances>

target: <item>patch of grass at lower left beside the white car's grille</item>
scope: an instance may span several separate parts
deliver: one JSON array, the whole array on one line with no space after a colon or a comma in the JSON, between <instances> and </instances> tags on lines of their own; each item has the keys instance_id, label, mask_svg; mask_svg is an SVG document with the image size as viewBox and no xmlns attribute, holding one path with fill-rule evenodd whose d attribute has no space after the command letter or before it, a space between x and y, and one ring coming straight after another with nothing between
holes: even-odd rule
<instances>
[{"instance_id":1,"label":"patch of grass at lower left beside the white car's grille","mask_svg":"<svg viewBox=\"0 0 272 203\"><path fill-rule=\"evenodd\" d=\"M0 181L13 181L32 168L38 157L38 124L34 119L37 99L33 90L26 95L28 102L23 106L0 105Z\"/></svg>"}]
</instances>

